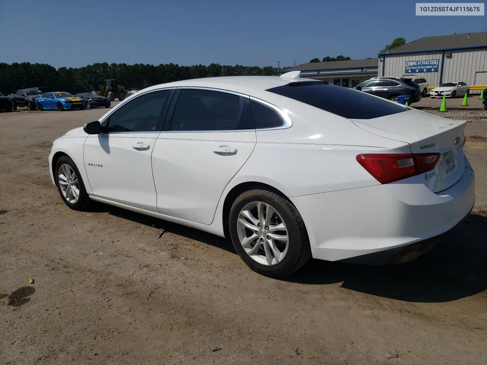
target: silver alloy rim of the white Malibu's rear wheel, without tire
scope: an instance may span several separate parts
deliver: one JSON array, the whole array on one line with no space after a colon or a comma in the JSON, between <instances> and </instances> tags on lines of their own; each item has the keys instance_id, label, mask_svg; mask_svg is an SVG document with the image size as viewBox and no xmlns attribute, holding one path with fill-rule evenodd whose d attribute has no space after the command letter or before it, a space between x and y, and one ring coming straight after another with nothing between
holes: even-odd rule
<instances>
[{"instance_id":1,"label":"silver alloy rim of the white Malibu's rear wheel, without tire","mask_svg":"<svg viewBox=\"0 0 487 365\"><path fill-rule=\"evenodd\" d=\"M287 254L287 227L269 204L254 201L245 205L237 219L237 232L247 255L259 264L276 265Z\"/></svg>"}]
</instances>

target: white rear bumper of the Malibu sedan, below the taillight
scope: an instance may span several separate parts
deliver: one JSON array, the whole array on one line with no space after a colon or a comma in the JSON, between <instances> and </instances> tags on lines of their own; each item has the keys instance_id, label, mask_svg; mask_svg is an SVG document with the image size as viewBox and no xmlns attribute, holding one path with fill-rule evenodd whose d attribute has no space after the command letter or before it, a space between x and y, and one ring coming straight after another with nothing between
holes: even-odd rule
<instances>
[{"instance_id":1,"label":"white rear bumper of the Malibu sedan, below the taillight","mask_svg":"<svg viewBox=\"0 0 487 365\"><path fill-rule=\"evenodd\" d=\"M418 176L291 198L306 224L313 257L337 261L392 249L400 253L424 241L416 250L422 252L429 244L425 240L437 241L468 215L475 202L474 173L467 159L465 165L462 178L438 193Z\"/></svg>"}]
</instances>

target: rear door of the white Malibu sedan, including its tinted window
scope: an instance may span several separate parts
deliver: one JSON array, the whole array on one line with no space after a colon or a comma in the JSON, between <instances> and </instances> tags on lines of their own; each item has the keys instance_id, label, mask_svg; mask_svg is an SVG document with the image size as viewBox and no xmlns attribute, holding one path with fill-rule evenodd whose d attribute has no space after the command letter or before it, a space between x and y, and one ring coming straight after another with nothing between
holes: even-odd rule
<instances>
[{"instance_id":1,"label":"rear door of the white Malibu sedan, including its tinted window","mask_svg":"<svg viewBox=\"0 0 487 365\"><path fill-rule=\"evenodd\" d=\"M178 88L152 153L160 213L211 224L225 186L255 143L248 96Z\"/></svg>"}]
</instances>

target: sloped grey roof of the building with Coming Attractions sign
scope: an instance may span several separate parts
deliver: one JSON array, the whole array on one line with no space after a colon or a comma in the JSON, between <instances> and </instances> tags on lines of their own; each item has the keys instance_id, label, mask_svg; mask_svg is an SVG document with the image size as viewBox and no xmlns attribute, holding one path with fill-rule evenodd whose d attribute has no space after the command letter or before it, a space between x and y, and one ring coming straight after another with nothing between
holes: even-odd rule
<instances>
[{"instance_id":1,"label":"sloped grey roof of the building with Coming Attractions sign","mask_svg":"<svg viewBox=\"0 0 487 365\"><path fill-rule=\"evenodd\" d=\"M458 48L487 47L487 32L450 34L449 36L423 37L395 47L389 52L379 53L412 53L421 51L450 50Z\"/></svg>"}]
</instances>

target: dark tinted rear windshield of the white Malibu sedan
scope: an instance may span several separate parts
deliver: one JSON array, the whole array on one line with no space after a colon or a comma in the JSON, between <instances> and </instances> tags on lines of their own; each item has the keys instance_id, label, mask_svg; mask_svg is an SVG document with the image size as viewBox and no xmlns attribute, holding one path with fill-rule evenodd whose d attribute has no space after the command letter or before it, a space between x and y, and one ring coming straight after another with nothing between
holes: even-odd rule
<instances>
[{"instance_id":1,"label":"dark tinted rear windshield of the white Malibu sedan","mask_svg":"<svg viewBox=\"0 0 487 365\"><path fill-rule=\"evenodd\" d=\"M290 83L267 91L348 119L373 119L409 110L362 91L324 82Z\"/></svg>"}]
</instances>

